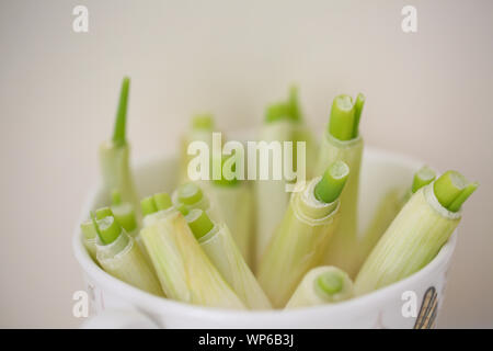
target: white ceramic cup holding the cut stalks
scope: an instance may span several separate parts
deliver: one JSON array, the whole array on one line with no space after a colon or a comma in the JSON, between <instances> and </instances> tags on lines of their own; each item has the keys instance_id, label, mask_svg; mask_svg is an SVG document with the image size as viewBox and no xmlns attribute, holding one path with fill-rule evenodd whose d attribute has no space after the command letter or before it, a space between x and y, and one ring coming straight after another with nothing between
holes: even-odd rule
<instances>
[{"instance_id":1,"label":"white ceramic cup holding the cut stalks","mask_svg":"<svg viewBox=\"0 0 493 351\"><path fill-rule=\"evenodd\" d=\"M371 148L365 150L359 203L360 228L368 224L381 196L390 189L409 185L413 172L422 166L422 162L400 155ZM147 162L136 168L140 193L146 195L157 191L172 191L175 172L170 170L177 170L173 158ZM98 190L91 193L82 210L81 219L87 218L90 210L104 205L101 197ZM82 269L90 296L93 316L84 322L89 328L413 328L435 326L456 240L457 233L454 233L428 265L395 284L347 302L287 312L223 310L150 295L101 270L87 253L79 229L73 235L73 252ZM421 308L424 318L402 314L405 298L409 298L404 293L409 291L417 296L417 312L423 305L431 307ZM433 303L434 301L436 302ZM420 320L417 326L416 320Z\"/></svg>"}]
</instances>

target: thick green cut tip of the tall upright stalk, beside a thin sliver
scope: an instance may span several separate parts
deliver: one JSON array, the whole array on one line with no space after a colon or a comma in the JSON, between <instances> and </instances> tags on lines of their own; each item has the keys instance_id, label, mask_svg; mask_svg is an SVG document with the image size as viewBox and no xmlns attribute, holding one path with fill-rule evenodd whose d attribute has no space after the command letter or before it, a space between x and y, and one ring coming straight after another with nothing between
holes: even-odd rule
<instances>
[{"instance_id":1,"label":"thick green cut tip of the tall upright stalk, beside a thin sliver","mask_svg":"<svg viewBox=\"0 0 493 351\"><path fill-rule=\"evenodd\" d=\"M353 139L354 117L353 99L345 94L335 97L329 121L329 133L340 140Z\"/></svg>"}]
</instances>

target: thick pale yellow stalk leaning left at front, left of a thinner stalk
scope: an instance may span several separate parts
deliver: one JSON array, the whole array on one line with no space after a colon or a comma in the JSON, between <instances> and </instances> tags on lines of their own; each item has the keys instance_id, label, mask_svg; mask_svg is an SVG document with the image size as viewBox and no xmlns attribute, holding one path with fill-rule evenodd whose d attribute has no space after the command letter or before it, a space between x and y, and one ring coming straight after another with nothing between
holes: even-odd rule
<instances>
[{"instance_id":1,"label":"thick pale yellow stalk leaning left at front, left of a thinner stalk","mask_svg":"<svg viewBox=\"0 0 493 351\"><path fill-rule=\"evenodd\" d=\"M159 204L154 196L147 197L142 213L146 217L140 236L168 297L209 307L245 308L171 202Z\"/></svg>"}]
</instances>

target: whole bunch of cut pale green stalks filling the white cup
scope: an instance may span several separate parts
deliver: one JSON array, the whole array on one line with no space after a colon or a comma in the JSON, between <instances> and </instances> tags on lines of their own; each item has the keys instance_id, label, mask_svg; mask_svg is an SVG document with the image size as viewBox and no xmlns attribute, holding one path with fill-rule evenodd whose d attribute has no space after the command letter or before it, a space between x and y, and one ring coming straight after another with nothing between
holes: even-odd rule
<instances>
[{"instance_id":1,"label":"whole bunch of cut pale green stalks filling the white cup","mask_svg":"<svg viewBox=\"0 0 493 351\"><path fill-rule=\"evenodd\" d=\"M405 189L391 190L372 204L375 216L358 233L365 98L333 100L317 150L293 88L287 101L267 107L260 139L307 143L306 174L314 178L301 189L286 192L286 183L296 179L251 186L227 178L226 155L219 157L219 179L191 182L190 143L213 149L214 121L204 114L193 118L182 138L172 196L159 192L139 202L126 139L128 91L125 78L113 137L100 148L107 206L81 224L81 239L101 269L163 298L236 309L290 309L355 298L429 263L478 188L456 171L437 178L423 167ZM287 155L291 166L296 157L295 148Z\"/></svg>"}]
</instances>

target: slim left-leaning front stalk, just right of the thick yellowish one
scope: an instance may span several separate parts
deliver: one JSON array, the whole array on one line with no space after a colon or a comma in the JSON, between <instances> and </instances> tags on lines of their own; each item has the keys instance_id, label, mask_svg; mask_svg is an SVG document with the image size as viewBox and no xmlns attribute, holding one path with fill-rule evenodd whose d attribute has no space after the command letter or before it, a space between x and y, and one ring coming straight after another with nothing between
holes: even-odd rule
<instances>
[{"instance_id":1,"label":"slim left-leaning front stalk, just right of the thick yellowish one","mask_svg":"<svg viewBox=\"0 0 493 351\"><path fill-rule=\"evenodd\" d=\"M215 224L202 210L192 210L185 218L200 248L243 304L250 309L272 308L228 226Z\"/></svg>"}]
</instances>

